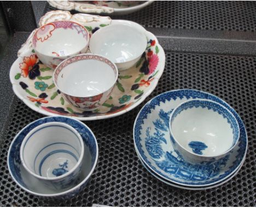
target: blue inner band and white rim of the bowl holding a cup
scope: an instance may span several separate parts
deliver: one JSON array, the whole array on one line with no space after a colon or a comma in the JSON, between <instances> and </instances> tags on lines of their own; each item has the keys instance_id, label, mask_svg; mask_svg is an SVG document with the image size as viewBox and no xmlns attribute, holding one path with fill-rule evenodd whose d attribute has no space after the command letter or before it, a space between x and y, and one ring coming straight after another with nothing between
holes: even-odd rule
<instances>
[{"instance_id":1,"label":"blue inner band and white rim of the bowl holding a cup","mask_svg":"<svg viewBox=\"0 0 256 208\"><path fill-rule=\"evenodd\" d=\"M90 146L89 150L90 150L90 154L92 156L92 158L91 158L91 161L92 161L91 170L90 170L89 174L86 175L86 177L82 181L80 181L77 185L75 185L71 189L68 189L67 191L63 191L63 192L59 192L59 193L53 193L53 194L37 193L37 192L31 191L30 189L28 189L28 187L26 186L26 184L22 180L21 173L20 173L20 168L18 167L18 165L15 164L16 161L17 161L19 163L19 166L22 165L21 160L20 160L20 154L19 153L15 154L15 152L17 150L19 151L19 149L21 147L22 140L25 138L25 136L28 132L30 132L32 129L34 129L34 127L36 127L40 124L45 124L45 123L49 123L49 122L53 122L53 121L66 123L66 124L71 125L72 127L74 127L74 129L76 129L76 127L77 127L76 130L80 134L82 134L81 136L83 138L84 145L89 145ZM82 128L83 128L83 130L81 130ZM11 156L11 155L16 155L16 158L14 156ZM39 195L41 197L60 197L60 196L63 196L63 195L66 195L67 197L72 197L74 194L79 192L80 189L83 188L86 185L86 183L88 183L88 181L90 179L90 176L94 172L94 169L96 167L97 160L98 160L98 144L97 144L97 140L94 136L94 133L90 130L90 128L87 125L82 123L82 121L79 121L79 120L73 119L73 118L69 118L69 117L63 117L63 116L44 117L44 118L38 119L38 120L33 121L32 123L26 125L14 137L13 141L10 144L10 147L9 147L9 150L8 150L8 156L7 156L7 162L8 162L7 164L8 164L8 169L9 169L11 178L13 178L13 180L22 189L24 189L28 193L31 193L31 194L34 194L34 195Z\"/></svg>"}]
</instances>

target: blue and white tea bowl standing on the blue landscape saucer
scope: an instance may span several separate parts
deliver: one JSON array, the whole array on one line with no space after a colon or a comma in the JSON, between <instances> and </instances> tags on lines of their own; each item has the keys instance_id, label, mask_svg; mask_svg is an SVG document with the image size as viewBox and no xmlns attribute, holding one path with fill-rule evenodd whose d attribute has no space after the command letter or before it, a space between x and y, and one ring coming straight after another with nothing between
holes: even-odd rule
<instances>
[{"instance_id":1,"label":"blue and white tea bowl standing on the blue landscape saucer","mask_svg":"<svg viewBox=\"0 0 256 208\"><path fill-rule=\"evenodd\" d=\"M219 103L205 99L183 102L174 108L169 127L174 149L193 164L225 157L240 135L234 115Z\"/></svg>"}]
</instances>

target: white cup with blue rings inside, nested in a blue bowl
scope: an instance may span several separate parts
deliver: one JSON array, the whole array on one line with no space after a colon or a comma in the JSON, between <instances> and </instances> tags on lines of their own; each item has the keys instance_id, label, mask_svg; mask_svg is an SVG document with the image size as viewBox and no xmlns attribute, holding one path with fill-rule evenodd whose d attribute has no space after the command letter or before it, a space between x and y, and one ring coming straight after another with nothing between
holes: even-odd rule
<instances>
[{"instance_id":1,"label":"white cup with blue rings inside, nested in a blue bowl","mask_svg":"<svg viewBox=\"0 0 256 208\"><path fill-rule=\"evenodd\" d=\"M51 189L65 189L79 180L83 156L78 131L59 122L35 127L20 148L21 163L28 174Z\"/></svg>"}]
</instances>

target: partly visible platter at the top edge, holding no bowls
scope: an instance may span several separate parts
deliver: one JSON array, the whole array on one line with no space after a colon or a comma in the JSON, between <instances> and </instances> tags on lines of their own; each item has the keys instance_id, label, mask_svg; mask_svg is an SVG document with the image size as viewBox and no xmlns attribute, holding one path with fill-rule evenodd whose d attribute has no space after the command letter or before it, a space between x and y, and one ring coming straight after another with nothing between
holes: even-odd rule
<instances>
[{"instance_id":1,"label":"partly visible platter at the top edge, holding no bowls","mask_svg":"<svg viewBox=\"0 0 256 208\"><path fill-rule=\"evenodd\" d=\"M80 13L124 15L147 7L153 1L48 1L51 7Z\"/></svg>"}]
</instances>

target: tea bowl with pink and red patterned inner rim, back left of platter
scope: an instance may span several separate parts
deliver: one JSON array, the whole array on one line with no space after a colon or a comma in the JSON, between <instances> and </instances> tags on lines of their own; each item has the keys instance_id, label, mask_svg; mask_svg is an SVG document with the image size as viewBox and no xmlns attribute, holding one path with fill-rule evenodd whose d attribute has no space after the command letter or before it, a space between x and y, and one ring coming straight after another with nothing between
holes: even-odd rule
<instances>
[{"instance_id":1,"label":"tea bowl with pink and red patterned inner rim, back left of platter","mask_svg":"<svg viewBox=\"0 0 256 208\"><path fill-rule=\"evenodd\" d=\"M85 27L72 21L50 22L37 29L32 44L40 61L55 69L63 60L86 53L89 33Z\"/></svg>"}]
</instances>

